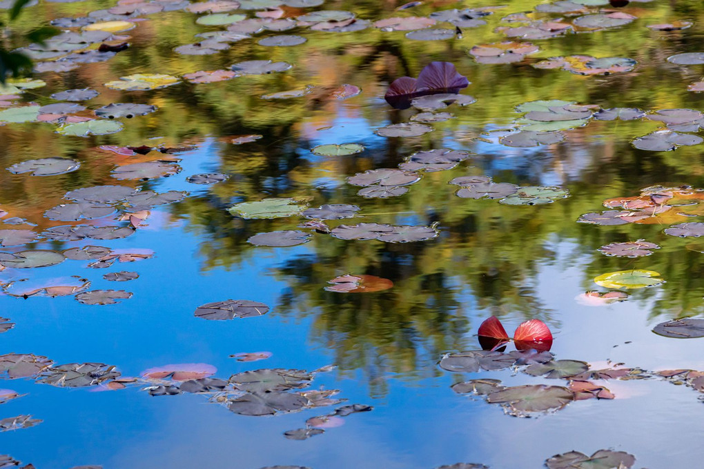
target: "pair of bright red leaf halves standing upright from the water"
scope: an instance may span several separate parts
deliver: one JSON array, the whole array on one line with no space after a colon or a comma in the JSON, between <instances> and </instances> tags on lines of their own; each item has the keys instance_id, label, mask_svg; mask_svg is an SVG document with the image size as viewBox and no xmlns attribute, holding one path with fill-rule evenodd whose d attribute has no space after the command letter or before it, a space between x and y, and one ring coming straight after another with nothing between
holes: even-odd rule
<instances>
[{"instance_id":1,"label":"pair of bright red leaf halves standing upright from the water","mask_svg":"<svg viewBox=\"0 0 704 469\"><path fill-rule=\"evenodd\" d=\"M496 350L510 341L496 316L491 316L479 326L478 335L479 345L482 345L484 350ZM540 319L531 319L520 323L516 328L513 343L519 350L535 349L538 352L547 352L553 346L553 335L546 323Z\"/></svg>"}]
</instances>

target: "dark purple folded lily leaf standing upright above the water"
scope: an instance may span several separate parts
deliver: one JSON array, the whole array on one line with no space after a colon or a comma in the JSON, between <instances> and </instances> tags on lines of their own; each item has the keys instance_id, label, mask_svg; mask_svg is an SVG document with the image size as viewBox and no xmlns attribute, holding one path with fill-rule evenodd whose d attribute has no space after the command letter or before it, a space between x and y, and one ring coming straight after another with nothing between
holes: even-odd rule
<instances>
[{"instance_id":1,"label":"dark purple folded lily leaf standing upright above the water","mask_svg":"<svg viewBox=\"0 0 704 469\"><path fill-rule=\"evenodd\" d=\"M420 71L418 78L401 77L394 80L384 99L396 109L410 108L410 101L429 94L453 93L466 88L470 82L449 62L431 62Z\"/></svg>"}]
</instances>

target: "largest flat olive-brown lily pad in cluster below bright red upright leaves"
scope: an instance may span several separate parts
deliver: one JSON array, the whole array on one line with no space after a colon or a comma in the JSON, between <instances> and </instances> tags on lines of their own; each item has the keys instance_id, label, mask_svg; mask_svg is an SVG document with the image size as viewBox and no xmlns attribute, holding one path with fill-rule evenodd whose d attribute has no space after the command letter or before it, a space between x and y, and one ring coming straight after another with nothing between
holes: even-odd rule
<instances>
[{"instance_id":1,"label":"largest flat olive-brown lily pad in cluster below bright red upright leaves","mask_svg":"<svg viewBox=\"0 0 704 469\"><path fill-rule=\"evenodd\" d=\"M502 404L513 416L562 409L572 400L574 395L566 387L546 385L506 387L486 397L487 402Z\"/></svg>"}]
</instances>

